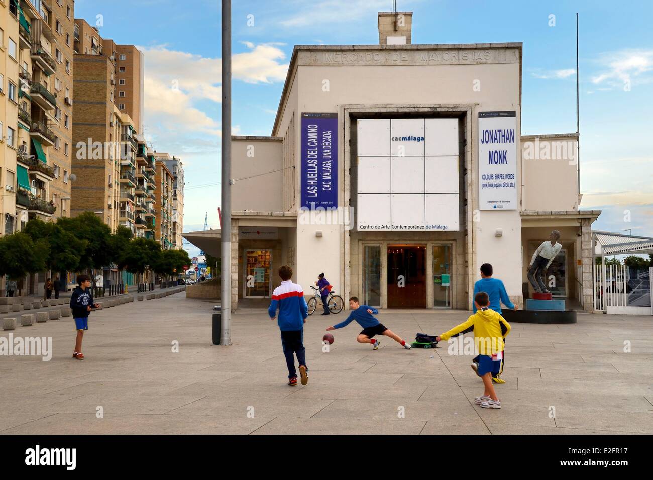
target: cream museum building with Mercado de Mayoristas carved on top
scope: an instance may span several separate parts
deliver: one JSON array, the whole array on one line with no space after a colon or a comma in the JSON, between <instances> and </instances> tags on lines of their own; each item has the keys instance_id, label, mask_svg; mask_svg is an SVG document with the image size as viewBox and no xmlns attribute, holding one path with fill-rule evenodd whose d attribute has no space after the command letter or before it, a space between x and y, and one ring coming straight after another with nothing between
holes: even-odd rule
<instances>
[{"instance_id":1,"label":"cream museum building with Mercado de Mayoristas carved on top","mask_svg":"<svg viewBox=\"0 0 653 480\"><path fill-rule=\"evenodd\" d=\"M232 137L232 308L290 264L307 295L324 272L345 300L468 309L486 262L521 306L555 229L549 289L592 310L600 212L579 209L577 133L521 133L522 44L378 24L379 44L295 46L272 135ZM186 238L219 255L216 233Z\"/></svg>"}]
</instances>

